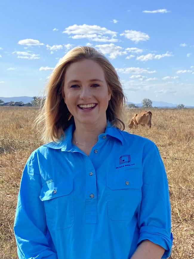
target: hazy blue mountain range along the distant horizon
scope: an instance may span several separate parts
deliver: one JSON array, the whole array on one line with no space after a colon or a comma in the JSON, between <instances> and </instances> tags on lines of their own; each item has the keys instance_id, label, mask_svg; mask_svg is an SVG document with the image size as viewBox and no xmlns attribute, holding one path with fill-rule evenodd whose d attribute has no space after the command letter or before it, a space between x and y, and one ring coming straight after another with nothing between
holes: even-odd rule
<instances>
[{"instance_id":1,"label":"hazy blue mountain range along the distant horizon","mask_svg":"<svg viewBox=\"0 0 194 259\"><path fill-rule=\"evenodd\" d=\"M29 96L18 96L18 97L0 97L0 99L3 101L3 102L24 102L24 103L28 103L28 102L31 102L33 101L33 97L29 97ZM142 106L142 103L134 103L134 102L127 102L127 104L135 104L136 106L139 106L141 107ZM173 103L168 103L168 102L156 102L156 101L152 101L152 106L153 107L169 107L169 108L173 108L173 107L176 107L177 104L173 104ZM185 105L186 108L194 108L194 106L187 106Z\"/></svg>"}]
</instances>

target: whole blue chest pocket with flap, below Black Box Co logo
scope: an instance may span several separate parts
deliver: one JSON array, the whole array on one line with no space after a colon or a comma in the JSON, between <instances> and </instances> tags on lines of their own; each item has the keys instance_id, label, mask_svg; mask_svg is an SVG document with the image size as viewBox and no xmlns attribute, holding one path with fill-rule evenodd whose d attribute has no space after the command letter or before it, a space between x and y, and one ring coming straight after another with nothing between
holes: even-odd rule
<instances>
[{"instance_id":1,"label":"whole blue chest pocket with flap, below Black Box Co logo","mask_svg":"<svg viewBox=\"0 0 194 259\"><path fill-rule=\"evenodd\" d=\"M141 204L141 169L125 169L107 174L107 216L130 221Z\"/></svg>"}]
</instances>

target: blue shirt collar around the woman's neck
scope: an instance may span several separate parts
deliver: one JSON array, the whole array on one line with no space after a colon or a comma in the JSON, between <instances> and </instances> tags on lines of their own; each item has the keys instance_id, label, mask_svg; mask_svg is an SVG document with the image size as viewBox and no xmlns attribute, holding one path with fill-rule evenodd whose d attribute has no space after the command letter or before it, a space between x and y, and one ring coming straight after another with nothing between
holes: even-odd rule
<instances>
[{"instance_id":1,"label":"blue shirt collar around the woman's neck","mask_svg":"<svg viewBox=\"0 0 194 259\"><path fill-rule=\"evenodd\" d=\"M54 148L54 149L61 149L61 151L74 151L71 140L72 140L72 132L75 130L75 124L71 124L65 130L65 138L60 142L49 142L44 144L44 147ZM100 134L99 136L109 135L110 137L114 137L118 139L121 144L123 145L124 139L121 134L121 131L118 128L111 126L110 122L107 120L107 127L105 133Z\"/></svg>"}]
</instances>

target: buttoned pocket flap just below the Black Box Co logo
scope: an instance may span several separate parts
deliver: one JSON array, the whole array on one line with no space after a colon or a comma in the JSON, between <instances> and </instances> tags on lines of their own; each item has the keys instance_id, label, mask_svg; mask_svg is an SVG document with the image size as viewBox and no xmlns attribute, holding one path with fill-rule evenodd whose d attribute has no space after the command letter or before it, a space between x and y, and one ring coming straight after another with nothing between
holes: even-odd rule
<instances>
[{"instance_id":1,"label":"buttoned pocket flap just below the Black Box Co logo","mask_svg":"<svg viewBox=\"0 0 194 259\"><path fill-rule=\"evenodd\" d=\"M142 175L138 168L107 174L107 186L112 190L141 188Z\"/></svg>"}]
</instances>

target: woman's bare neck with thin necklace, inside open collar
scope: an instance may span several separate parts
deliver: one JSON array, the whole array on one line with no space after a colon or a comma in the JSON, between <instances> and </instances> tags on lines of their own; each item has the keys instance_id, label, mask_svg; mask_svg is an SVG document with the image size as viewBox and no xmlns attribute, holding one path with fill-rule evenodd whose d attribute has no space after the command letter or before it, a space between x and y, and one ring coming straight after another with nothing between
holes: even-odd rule
<instances>
[{"instance_id":1,"label":"woman's bare neck with thin necklace, inside open collar","mask_svg":"<svg viewBox=\"0 0 194 259\"><path fill-rule=\"evenodd\" d=\"M93 147L98 141L98 135L105 132L107 122L99 125L81 124L76 123L76 129L73 132L72 140L73 144L77 141L79 145Z\"/></svg>"}]
</instances>

